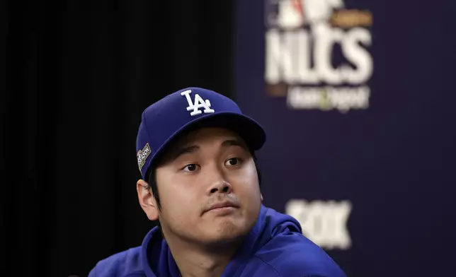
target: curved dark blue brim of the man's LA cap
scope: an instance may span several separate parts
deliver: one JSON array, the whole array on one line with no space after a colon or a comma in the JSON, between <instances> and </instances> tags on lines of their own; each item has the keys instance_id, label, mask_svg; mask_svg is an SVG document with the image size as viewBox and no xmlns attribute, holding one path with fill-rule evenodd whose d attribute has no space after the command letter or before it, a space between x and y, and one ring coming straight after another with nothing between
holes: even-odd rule
<instances>
[{"instance_id":1,"label":"curved dark blue brim of the man's LA cap","mask_svg":"<svg viewBox=\"0 0 456 277\"><path fill-rule=\"evenodd\" d=\"M263 147L266 141L266 133L263 127L256 122L254 119L247 117L244 114L238 114L235 112L217 112L214 114L207 114L203 117L198 117L185 125L181 126L175 131L162 145L156 149L154 155L149 162L149 168L154 166L159 157L164 152L166 146L174 141L178 136L188 134L190 131L201 128L226 128L230 129L238 134L243 139L251 151L258 151Z\"/></svg>"}]
</instances>

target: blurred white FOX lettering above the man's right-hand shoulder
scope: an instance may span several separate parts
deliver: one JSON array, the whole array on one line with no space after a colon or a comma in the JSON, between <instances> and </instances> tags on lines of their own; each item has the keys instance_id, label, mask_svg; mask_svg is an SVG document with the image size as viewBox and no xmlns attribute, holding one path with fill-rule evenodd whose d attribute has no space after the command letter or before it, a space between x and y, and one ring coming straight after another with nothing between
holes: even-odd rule
<instances>
[{"instance_id":1,"label":"blurred white FOX lettering above the man's right-hand shoulder","mask_svg":"<svg viewBox=\"0 0 456 277\"><path fill-rule=\"evenodd\" d=\"M309 240L326 249L348 249L351 244L347 220L351 211L348 201L290 200L286 213L298 220Z\"/></svg>"}]
</instances>

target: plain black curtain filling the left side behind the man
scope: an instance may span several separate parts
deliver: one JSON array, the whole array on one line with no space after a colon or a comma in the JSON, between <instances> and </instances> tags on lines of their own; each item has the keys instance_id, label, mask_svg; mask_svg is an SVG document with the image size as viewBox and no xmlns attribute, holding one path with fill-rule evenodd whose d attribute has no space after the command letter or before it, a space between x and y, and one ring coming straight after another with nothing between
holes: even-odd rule
<instances>
[{"instance_id":1,"label":"plain black curtain filling the left side behind the man","mask_svg":"<svg viewBox=\"0 0 456 277\"><path fill-rule=\"evenodd\" d=\"M232 93L232 1L11 1L1 95L2 276L87 276L141 244L135 140L187 86ZM4 63L5 64L5 63ZM169 111L172 112L172 111Z\"/></svg>"}]
</instances>

